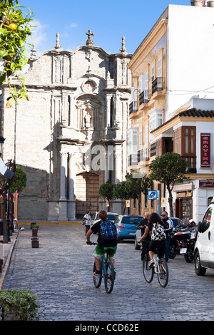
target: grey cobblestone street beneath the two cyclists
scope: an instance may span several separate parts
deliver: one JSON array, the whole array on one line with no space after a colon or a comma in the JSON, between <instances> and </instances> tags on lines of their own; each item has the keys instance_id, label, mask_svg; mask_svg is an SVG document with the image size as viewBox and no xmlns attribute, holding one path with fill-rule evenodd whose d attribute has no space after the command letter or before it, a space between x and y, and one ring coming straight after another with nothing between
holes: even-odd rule
<instances>
[{"instance_id":1,"label":"grey cobblestone street beneath the two cyclists","mask_svg":"<svg viewBox=\"0 0 214 335\"><path fill-rule=\"evenodd\" d=\"M91 240L96 242L97 236ZM118 244L116 282L111 294L93 286L93 249L81 225L41 225L39 248L31 230L19 232L3 289L31 289L39 298L40 320L178 321L214 320L214 272L195 275L194 264L170 259L168 286L143 279L141 251ZM209 311L209 313L208 313Z\"/></svg>"}]
</instances>

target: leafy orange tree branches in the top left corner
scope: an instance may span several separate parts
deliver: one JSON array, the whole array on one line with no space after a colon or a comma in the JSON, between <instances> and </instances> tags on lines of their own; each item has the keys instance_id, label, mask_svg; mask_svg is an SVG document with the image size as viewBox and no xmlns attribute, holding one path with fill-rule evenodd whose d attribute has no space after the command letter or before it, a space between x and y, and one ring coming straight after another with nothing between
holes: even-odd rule
<instances>
[{"instance_id":1,"label":"leafy orange tree branches in the top left corner","mask_svg":"<svg viewBox=\"0 0 214 335\"><path fill-rule=\"evenodd\" d=\"M24 96L28 99L24 77L21 88L12 87L9 77L16 71L21 71L28 62L25 48L26 38L31 36L32 12L28 15L21 11L18 0L1 0L0 3L0 58L3 61L3 71L0 73L0 86L7 82L10 96L6 107L10 108ZM26 16L25 16L26 15Z\"/></svg>"}]
</instances>

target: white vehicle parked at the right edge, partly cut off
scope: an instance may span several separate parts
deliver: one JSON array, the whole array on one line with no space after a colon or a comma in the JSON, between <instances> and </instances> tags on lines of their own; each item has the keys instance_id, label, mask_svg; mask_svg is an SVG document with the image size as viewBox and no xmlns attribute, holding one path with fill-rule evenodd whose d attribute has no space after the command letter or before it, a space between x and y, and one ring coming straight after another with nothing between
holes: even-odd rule
<instances>
[{"instance_id":1,"label":"white vehicle parked at the right edge, partly cut off","mask_svg":"<svg viewBox=\"0 0 214 335\"><path fill-rule=\"evenodd\" d=\"M204 276L206 269L214 269L214 197L202 222L198 223L198 236L194 249L195 273Z\"/></svg>"}]
</instances>

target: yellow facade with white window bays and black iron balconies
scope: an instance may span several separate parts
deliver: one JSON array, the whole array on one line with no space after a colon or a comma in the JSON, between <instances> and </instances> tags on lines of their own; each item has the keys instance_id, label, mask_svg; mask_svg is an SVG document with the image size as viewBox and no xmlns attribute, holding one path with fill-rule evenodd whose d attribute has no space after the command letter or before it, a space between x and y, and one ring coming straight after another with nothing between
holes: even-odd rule
<instances>
[{"instance_id":1,"label":"yellow facade with white window bays and black iron balconies","mask_svg":"<svg viewBox=\"0 0 214 335\"><path fill-rule=\"evenodd\" d=\"M148 165L156 157L156 138L151 131L165 120L166 92L166 12L157 21L133 54L128 68L132 75L132 103L129 109L128 170L148 175ZM170 141L165 145L171 145ZM160 186L159 186L160 187ZM153 190L158 190L154 184ZM161 190L161 187L160 187ZM156 210L158 200L141 197L141 214ZM131 201L131 212L138 214L138 204Z\"/></svg>"}]
</instances>

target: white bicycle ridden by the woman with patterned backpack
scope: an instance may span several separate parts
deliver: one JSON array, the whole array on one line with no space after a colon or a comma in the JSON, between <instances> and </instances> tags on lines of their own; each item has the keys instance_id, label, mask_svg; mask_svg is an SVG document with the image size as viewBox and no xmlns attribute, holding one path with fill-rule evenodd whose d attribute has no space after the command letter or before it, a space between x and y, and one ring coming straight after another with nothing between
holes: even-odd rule
<instances>
[{"instance_id":1,"label":"white bicycle ridden by the woman with patterned backpack","mask_svg":"<svg viewBox=\"0 0 214 335\"><path fill-rule=\"evenodd\" d=\"M143 277L146 282L151 283L153 281L154 274L158 275L158 282L161 287L166 287L168 284L168 265L164 258L159 258L158 254L154 254L153 260L155 262L154 267L150 267L150 257L148 252L143 259Z\"/></svg>"}]
</instances>

